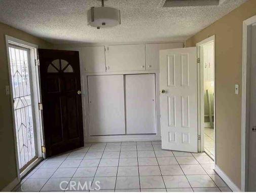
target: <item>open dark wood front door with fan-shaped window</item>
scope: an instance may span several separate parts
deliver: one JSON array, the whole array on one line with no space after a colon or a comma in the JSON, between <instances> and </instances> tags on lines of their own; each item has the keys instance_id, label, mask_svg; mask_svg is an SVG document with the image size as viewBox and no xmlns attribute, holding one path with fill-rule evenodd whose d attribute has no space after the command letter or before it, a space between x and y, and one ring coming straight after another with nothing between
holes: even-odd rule
<instances>
[{"instance_id":1,"label":"open dark wood front door with fan-shaped window","mask_svg":"<svg viewBox=\"0 0 256 193\"><path fill-rule=\"evenodd\" d=\"M84 146L79 52L39 49L46 156Z\"/></svg>"}]
</instances>

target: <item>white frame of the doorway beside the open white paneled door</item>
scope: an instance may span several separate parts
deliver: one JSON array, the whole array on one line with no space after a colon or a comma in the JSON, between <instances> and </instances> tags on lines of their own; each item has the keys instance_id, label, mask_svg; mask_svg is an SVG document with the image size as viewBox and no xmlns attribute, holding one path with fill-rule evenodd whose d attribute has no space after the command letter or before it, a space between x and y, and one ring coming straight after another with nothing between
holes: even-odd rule
<instances>
[{"instance_id":1,"label":"white frame of the doorway beside the open white paneled door","mask_svg":"<svg viewBox=\"0 0 256 193\"><path fill-rule=\"evenodd\" d=\"M201 46L204 46L208 43L213 42L213 54L214 54L214 96L213 96L213 103L214 103L214 121L213 121L213 127L214 127L214 162L216 164L216 141L215 141L215 114L216 114L216 105L215 105L215 35L212 35L205 40L199 42L196 44L197 47L197 57L200 58L200 62L198 62L197 69L198 69L198 135L201 136L201 140L198 140L198 152L204 152L204 69L203 69L203 64L202 59L200 57L200 48Z\"/></svg>"}]
</instances>

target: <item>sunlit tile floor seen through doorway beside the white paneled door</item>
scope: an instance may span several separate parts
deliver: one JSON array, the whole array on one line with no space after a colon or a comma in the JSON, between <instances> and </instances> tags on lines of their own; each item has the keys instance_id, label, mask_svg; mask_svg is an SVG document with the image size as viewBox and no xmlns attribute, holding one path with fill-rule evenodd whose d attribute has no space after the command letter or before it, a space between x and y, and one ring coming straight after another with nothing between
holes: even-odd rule
<instances>
[{"instance_id":1,"label":"sunlit tile floor seen through doorway beside the white paneled door","mask_svg":"<svg viewBox=\"0 0 256 193\"><path fill-rule=\"evenodd\" d=\"M214 129L204 128L204 150L214 159Z\"/></svg>"}]
</instances>

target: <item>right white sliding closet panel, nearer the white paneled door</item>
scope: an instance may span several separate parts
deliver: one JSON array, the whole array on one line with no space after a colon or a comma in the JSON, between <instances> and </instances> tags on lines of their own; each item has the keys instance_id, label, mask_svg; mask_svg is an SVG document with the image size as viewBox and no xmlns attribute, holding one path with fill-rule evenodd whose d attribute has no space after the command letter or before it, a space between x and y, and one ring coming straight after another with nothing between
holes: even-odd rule
<instances>
[{"instance_id":1,"label":"right white sliding closet panel, nearer the white paneled door","mask_svg":"<svg viewBox=\"0 0 256 193\"><path fill-rule=\"evenodd\" d=\"M156 133L155 74L125 75L126 133Z\"/></svg>"}]
</instances>

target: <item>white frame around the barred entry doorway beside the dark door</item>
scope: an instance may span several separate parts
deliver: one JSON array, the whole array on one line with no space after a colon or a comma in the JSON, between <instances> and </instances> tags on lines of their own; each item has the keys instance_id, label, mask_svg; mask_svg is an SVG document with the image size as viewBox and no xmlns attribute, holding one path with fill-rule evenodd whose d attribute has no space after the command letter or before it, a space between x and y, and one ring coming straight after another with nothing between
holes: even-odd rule
<instances>
[{"instance_id":1,"label":"white frame around the barred entry doorway beside the dark door","mask_svg":"<svg viewBox=\"0 0 256 193\"><path fill-rule=\"evenodd\" d=\"M15 143L15 156L16 156L16 167L17 167L17 178L20 181L20 178L24 176L31 168L33 168L36 164L41 162L44 158L44 153L42 152L42 146L44 145L44 135L43 135L43 126L42 126L42 112L39 110L39 105L36 105L41 102L41 93L40 93L40 84L39 84L39 66L35 64L38 59L37 49L38 46L34 44L30 44L24 41L21 41L17 38L5 35L6 38L6 49L7 49L7 60L8 60L8 68L9 68L9 83L10 83L10 102L12 106L12 114L14 112L13 106L13 88L12 88L12 75L11 75L11 65L10 65L10 57L9 57L9 44L13 44L16 46L20 46L23 48L29 49L29 62L30 62L30 72L31 72L31 81L33 84L31 86L31 96L33 99L33 113L34 113L34 124L36 129L35 136L35 148L38 159L34 160L22 173L20 173L19 169L19 160L18 160L18 149L17 149L17 140L16 140L16 129L15 129L15 117L13 114L13 130L14 130L14 143Z\"/></svg>"}]
</instances>

